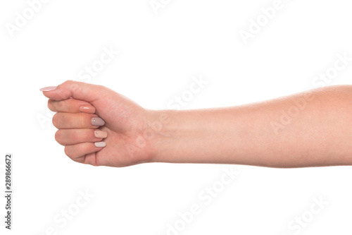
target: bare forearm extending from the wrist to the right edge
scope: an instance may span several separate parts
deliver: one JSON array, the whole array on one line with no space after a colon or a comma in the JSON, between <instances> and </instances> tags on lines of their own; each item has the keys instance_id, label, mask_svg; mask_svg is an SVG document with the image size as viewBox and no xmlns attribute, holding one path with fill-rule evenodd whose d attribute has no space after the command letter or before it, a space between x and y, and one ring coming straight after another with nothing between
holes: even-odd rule
<instances>
[{"instance_id":1,"label":"bare forearm extending from the wrist to the right edge","mask_svg":"<svg viewBox=\"0 0 352 235\"><path fill-rule=\"evenodd\" d=\"M168 122L151 140L153 162L265 167L352 164L352 87L348 85L239 107L154 115L159 114Z\"/></svg>"}]
</instances>

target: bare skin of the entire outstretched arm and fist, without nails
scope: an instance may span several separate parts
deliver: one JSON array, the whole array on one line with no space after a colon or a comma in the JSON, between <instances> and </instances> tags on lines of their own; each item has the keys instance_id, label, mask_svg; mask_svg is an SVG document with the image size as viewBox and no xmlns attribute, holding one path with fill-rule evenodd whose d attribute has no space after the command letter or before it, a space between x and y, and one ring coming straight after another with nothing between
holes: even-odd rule
<instances>
[{"instance_id":1,"label":"bare skin of the entire outstretched arm and fist, without nails","mask_svg":"<svg viewBox=\"0 0 352 235\"><path fill-rule=\"evenodd\" d=\"M148 110L101 85L68 80L43 92L56 140L75 162L320 167L352 164L352 86L336 85L237 107ZM86 109L80 109L80 107ZM101 117L104 126L92 126ZM96 138L94 131L106 131ZM106 147L94 142L104 141Z\"/></svg>"}]
</instances>

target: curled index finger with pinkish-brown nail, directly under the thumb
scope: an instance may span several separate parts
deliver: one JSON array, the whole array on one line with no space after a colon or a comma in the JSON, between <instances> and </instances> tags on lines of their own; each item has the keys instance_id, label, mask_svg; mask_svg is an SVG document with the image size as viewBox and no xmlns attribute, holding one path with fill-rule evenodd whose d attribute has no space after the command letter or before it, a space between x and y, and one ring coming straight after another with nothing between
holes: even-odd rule
<instances>
[{"instance_id":1,"label":"curled index finger with pinkish-brown nail, directly under the thumb","mask_svg":"<svg viewBox=\"0 0 352 235\"><path fill-rule=\"evenodd\" d=\"M82 100L76 99L68 99L68 100L48 100L48 108L52 112L65 112L65 113L79 113L84 112L87 114L94 114L95 107L89 102L85 102Z\"/></svg>"}]
</instances>

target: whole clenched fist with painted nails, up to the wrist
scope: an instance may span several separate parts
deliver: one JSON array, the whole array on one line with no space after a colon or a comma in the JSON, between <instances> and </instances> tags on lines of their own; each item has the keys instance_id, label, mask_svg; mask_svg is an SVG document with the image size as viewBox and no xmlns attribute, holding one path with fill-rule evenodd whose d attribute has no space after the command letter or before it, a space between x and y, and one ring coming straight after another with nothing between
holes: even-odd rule
<instances>
[{"instance_id":1,"label":"whole clenched fist with painted nails, up to the wrist","mask_svg":"<svg viewBox=\"0 0 352 235\"><path fill-rule=\"evenodd\" d=\"M53 117L56 140L75 162L125 167L150 161L150 141L141 136L151 112L101 85L73 80L43 93L50 99L49 109L57 112ZM106 146L96 147L96 142Z\"/></svg>"}]
</instances>

